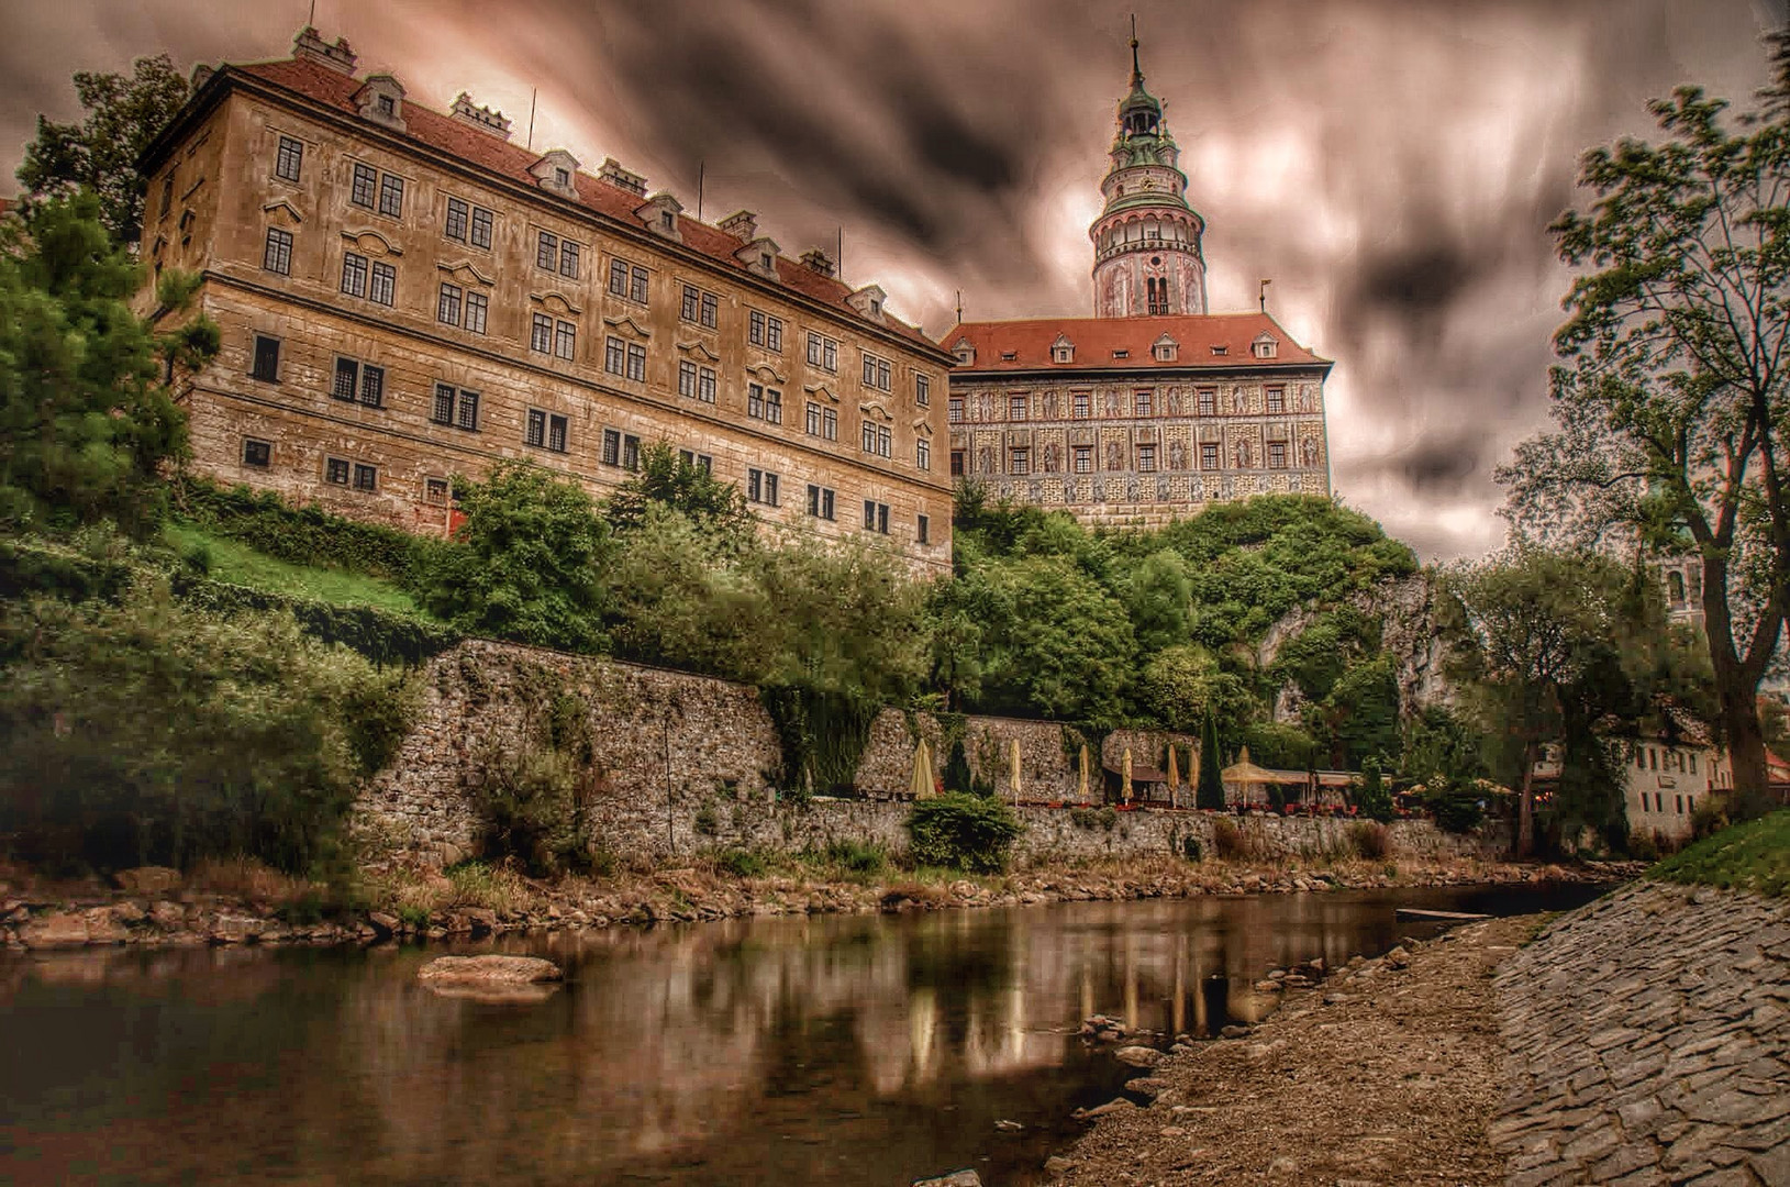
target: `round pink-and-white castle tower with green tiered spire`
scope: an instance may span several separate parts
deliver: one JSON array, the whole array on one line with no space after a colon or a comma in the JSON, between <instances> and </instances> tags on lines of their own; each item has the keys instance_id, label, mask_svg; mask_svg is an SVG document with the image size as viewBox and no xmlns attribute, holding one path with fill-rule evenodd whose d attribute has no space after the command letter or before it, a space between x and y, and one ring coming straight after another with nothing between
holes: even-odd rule
<instances>
[{"instance_id":1,"label":"round pink-and-white castle tower with green tiered spire","mask_svg":"<svg viewBox=\"0 0 1790 1187\"><path fill-rule=\"evenodd\" d=\"M1112 167L1101 183L1106 208L1094 240L1094 315L1142 317L1206 312L1205 220L1187 204L1187 174L1162 116L1144 90L1131 27L1131 91L1119 104Z\"/></svg>"}]
</instances>

